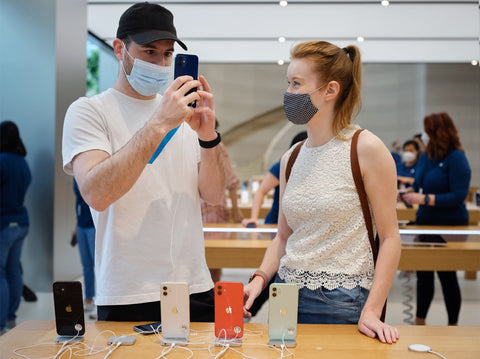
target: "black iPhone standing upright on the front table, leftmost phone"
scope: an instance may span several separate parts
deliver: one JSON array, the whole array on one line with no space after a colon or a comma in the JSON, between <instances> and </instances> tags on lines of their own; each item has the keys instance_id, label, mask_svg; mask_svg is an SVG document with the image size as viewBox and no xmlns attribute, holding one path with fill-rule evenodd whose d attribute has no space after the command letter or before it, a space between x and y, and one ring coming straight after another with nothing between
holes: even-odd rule
<instances>
[{"instance_id":1,"label":"black iPhone standing upright on the front table, leftmost phone","mask_svg":"<svg viewBox=\"0 0 480 359\"><path fill-rule=\"evenodd\" d=\"M82 284L78 281L53 283L53 302L58 335L82 337L85 334Z\"/></svg>"}]
</instances>

